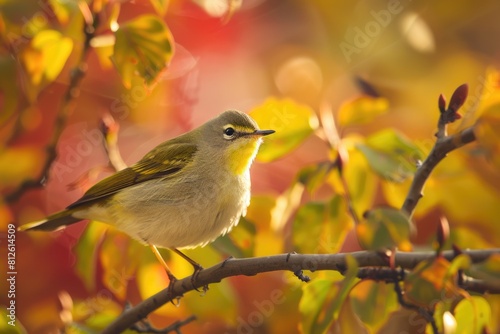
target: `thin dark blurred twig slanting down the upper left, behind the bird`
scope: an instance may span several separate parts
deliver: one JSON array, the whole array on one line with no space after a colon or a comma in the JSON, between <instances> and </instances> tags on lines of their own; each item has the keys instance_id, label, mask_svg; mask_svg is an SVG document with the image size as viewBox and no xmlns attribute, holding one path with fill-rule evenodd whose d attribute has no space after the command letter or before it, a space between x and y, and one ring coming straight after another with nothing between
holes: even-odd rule
<instances>
[{"instance_id":1,"label":"thin dark blurred twig slanting down the upper left, behind the bird","mask_svg":"<svg viewBox=\"0 0 500 334\"><path fill-rule=\"evenodd\" d=\"M16 190L5 195L4 198L7 203L17 201L29 189L43 187L43 185L49 179L50 167L57 158L57 143L59 142L59 138L61 137L61 134L64 130L67 119L74 109L74 100L80 94L81 82L87 72L87 57L91 49L90 40L94 37L97 25L97 16L94 17L92 23L86 23L84 25L85 40L82 53L80 55L80 60L78 61L78 65L76 65L75 68L70 72L70 83L66 92L64 93L60 110L57 114L57 118L55 119L52 138L50 139L46 147L47 158L45 159L45 163L43 164L40 175L37 178L27 179L23 181Z\"/></svg>"}]
</instances>

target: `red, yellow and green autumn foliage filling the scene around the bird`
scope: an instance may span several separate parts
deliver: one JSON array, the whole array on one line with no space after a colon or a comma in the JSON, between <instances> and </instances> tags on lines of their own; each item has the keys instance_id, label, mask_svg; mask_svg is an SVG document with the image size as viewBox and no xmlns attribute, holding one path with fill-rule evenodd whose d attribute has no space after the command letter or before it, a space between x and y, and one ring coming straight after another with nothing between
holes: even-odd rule
<instances>
[{"instance_id":1,"label":"red, yellow and green autumn foliage filling the scene around the bird","mask_svg":"<svg viewBox=\"0 0 500 334\"><path fill-rule=\"evenodd\" d=\"M276 130L246 216L186 250L227 278L127 332L500 332L500 49L475 38L498 37L485 13L500 7L482 6L3 1L0 270L16 318L2 284L0 332L97 333L165 296L154 255L108 225L14 227L225 109ZM295 253L340 257L287 267ZM258 275L231 275L231 257L258 257Z\"/></svg>"}]
</instances>

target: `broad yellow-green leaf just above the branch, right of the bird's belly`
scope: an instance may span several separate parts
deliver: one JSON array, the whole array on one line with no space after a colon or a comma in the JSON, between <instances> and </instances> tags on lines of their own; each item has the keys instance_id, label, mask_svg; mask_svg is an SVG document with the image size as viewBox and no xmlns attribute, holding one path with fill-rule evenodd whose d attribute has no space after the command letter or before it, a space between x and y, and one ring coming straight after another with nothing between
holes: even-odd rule
<instances>
[{"instance_id":1,"label":"broad yellow-green leaf just above the branch, right of the bird's belly","mask_svg":"<svg viewBox=\"0 0 500 334\"><path fill-rule=\"evenodd\" d=\"M340 250L352 220L342 196L326 203L309 202L293 222L293 244L300 253L334 253Z\"/></svg>"}]
</instances>

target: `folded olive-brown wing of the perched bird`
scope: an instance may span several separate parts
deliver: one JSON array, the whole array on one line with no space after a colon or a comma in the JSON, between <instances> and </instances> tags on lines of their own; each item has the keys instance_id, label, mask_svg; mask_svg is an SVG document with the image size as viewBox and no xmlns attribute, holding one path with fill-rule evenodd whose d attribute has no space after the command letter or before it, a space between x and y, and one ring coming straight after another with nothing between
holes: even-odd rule
<instances>
[{"instance_id":1,"label":"folded olive-brown wing of the perched bird","mask_svg":"<svg viewBox=\"0 0 500 334\"><path fill-rule=\"evenodd\" d=\"M95 184L79 200L69 205L68 209L109 197L138 183L173 175L193 160L196 150L194 144L172 141L162 143L136 164Z\"/></svg>"}]
</instances>

